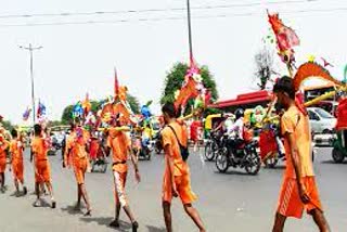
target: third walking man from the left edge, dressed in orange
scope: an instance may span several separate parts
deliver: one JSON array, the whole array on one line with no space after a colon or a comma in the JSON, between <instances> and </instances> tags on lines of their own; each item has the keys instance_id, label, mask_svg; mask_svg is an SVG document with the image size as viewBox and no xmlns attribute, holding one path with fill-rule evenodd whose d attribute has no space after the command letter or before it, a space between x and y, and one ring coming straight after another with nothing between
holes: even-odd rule
<instances>
[{"instance_id":1,"label":"third walking man from the left edge, dressed in orange","mask_svg":"<svg viewBox=\"0 0 347 232\"><path fill-rule=\"evenodd\" d=\"M56 203L54 201L53 196L53 189L51 184L51 171L50 171L50 165L48 162L48 144L42 137L42 127L38 124L34 126L34 139L31 141L31 153L34 157L34 164L35 164L35 192L37 199L34 203L35 207L39 207L41 204L40 202L40 184L46 184L50 196L52 208L55 208Z\"/></svg>"}]
</instances>

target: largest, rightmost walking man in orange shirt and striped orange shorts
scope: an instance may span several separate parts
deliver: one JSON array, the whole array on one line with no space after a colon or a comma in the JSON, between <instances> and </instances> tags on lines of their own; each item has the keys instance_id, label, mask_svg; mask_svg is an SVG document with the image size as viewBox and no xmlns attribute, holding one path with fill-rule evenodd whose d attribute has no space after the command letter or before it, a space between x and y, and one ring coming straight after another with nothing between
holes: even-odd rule
<instances>
[{"instance_id":1,"label":"largest, rightmost walking man in orange shirt and striped orange shorts","mask_svg":"<svg viewBox=\"0 0 347 232\"><path fill-rule=\"evenodd\" d=\"M321 232L329 232L311 162L309 119L295 104L293 79L282 77L273 87L273 92L285 108L281 118L281 130L284 136L286 157L273 232L283 231L287 217L301 218L304 209L312 216Z\"/></svg>"}]
</instances>

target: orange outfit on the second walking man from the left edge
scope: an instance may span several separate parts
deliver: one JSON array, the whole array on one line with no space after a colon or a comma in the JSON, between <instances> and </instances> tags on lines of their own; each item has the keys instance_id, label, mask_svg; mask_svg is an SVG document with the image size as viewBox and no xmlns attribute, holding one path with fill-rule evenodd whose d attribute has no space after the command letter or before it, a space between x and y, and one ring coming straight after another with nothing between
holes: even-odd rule
<instances>
[{"instance_id":1,"label":"orange outfit on the second walking man from the left edge","mask_svg":"<svg viewBox=\"0 0 347 232\"><path fill-rule=\"evenodd\" d=\"M12 171L15 180L24 181L23 143L16 139L11 141Z\"/></svg>"}]
</instances>

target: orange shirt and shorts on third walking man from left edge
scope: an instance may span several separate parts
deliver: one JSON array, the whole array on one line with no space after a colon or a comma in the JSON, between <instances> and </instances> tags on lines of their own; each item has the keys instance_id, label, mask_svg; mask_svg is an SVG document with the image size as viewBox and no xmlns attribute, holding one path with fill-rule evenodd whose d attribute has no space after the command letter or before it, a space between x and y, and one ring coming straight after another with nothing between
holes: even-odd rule
<instances>
[{"instance_id":1,"label":"orange shirt and shorts on third walking man from left edge","mask_svg":"<svg viewBox=\"0 0 347 232\"><path fill-rule=\"evenodd\" d=\"M35 158L35 181L36 183L51 182L51 170L48 162L48 145L43 138L34 138L31 150Z\"/></svg>"}]
</instances>

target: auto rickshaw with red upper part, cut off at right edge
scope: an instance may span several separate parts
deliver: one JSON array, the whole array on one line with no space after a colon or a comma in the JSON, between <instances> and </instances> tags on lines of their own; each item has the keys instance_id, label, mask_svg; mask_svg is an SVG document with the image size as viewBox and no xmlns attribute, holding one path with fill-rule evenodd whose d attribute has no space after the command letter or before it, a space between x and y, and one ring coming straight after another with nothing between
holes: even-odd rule
<instances>
[{"instance_id":1,"label":"auto rickshaw with red upper part, cut off at right edge","mask_svg":"<svg viewBox=\"0 0 347 232\"><path fill-rule=\"evenodd\" d=\"M347 98L338 103L336 134L332 156L335 163L340 164L347 156Z\"/></svg>"}]
</instances>

